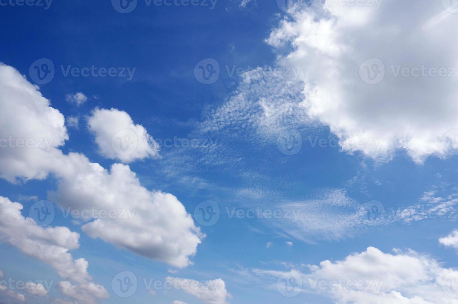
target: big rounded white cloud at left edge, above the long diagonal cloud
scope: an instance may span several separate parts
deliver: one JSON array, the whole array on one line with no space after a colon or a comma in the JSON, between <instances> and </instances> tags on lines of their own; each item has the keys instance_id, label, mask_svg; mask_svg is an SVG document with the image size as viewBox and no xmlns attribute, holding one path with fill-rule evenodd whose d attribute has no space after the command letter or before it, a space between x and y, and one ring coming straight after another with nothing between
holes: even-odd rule
<instances>
[{"instance_id":1,"label":"big rounded white cloud at left edge, above the long diagonal cloud","mask_svg":"<svg viewBox=\"0 0 458 304\"><path fill-rule=\"evenodd\" d=\"M52 155L68 139L64 115L49 105L37 87L0 64L0 177L44 179Z\"/></svg>"}]
</instances>

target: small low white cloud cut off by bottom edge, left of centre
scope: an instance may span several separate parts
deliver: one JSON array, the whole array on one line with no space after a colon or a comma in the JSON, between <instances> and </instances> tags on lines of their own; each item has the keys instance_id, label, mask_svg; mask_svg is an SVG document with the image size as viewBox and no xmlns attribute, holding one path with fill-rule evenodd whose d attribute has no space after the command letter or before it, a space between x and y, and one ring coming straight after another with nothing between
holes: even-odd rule
<instances>
[{"instance_id":1,"label":"small low white cloud cut off by bottom edge, left of centre","mask_svg":"<svg viewBox=\"0 0 458 304\"><path fill-rule=\"evenodd\" d=\"M222 279L210 280L204 284L196 280L178 277L167 277L166 280L174 282L179 289L196 296L208 304L226 304L226 299L231 297Z\"/></svg>"}]
</instances>

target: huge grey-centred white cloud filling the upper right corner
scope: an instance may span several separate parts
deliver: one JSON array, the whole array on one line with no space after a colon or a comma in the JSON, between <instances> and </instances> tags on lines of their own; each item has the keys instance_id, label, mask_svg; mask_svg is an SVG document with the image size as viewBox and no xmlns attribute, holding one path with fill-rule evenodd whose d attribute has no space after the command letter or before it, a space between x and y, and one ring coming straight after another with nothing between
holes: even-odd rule
<instances>
[{"instance_id":1,"label":"huge grey-centred white cloud filling the upper right corner","mask_svg":"<svg viewBox=\"0 0 458 304\"><path fill-rule=\"evenodd\" d=\"M456 14L441 1L324 2L295 5L267 39L282 65L301 68L307 114L350 153L456 154ZM364 144L372 139L382 145Z\"/></svg>"}]
</instances>

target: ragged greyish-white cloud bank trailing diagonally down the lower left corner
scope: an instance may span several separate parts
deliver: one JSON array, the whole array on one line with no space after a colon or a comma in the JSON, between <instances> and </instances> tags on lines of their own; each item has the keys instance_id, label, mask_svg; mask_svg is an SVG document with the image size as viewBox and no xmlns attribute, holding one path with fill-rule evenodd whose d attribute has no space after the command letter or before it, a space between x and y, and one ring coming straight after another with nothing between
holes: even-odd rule
<instances>
[{"instance_id":1,"label":"ragged greyish-white cloud bank trailing diagonally down the lower left corner","mask_svg":"<svg viewBox=\"0 0 458 304\"><path fill-rule=\"evenodd\" d=\"M79 233L66 227L40 227L32 218L22 216L22 208L20 203L0 196L0 241L49 264L60 277L78 282L74 293L67 296L85 304L96 303L96 299L108 299L109 294L103 286L90 282L92 277L87 272L87 261L83 258L74 260L68 252L79 248ZM38 296L47 294L42 284L27 284L28 293ZM85 297L80 297L80 293Z\"/></svg>"}]
</instances>

